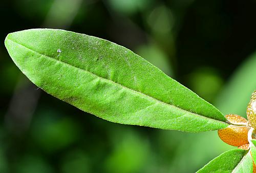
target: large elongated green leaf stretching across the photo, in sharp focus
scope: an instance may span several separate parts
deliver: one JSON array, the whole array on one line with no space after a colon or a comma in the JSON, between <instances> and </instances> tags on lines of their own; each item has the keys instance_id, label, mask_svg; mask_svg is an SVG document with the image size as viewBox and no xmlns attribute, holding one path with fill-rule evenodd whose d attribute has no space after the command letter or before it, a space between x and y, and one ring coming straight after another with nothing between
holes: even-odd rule
<instances>
[{"instance_id":1,"label":"large elongated green leaf stretching across the photo, in sharp focus","mask_svg":"<svg viewBox=\"0 0 256 173\"><path fill-rule=\"evenodd\" d=\"M105 120L186 132L228 125L210 103L113 42L31 29L8 34L5 45L39 88Z\"/></svg>"}]
</instances>

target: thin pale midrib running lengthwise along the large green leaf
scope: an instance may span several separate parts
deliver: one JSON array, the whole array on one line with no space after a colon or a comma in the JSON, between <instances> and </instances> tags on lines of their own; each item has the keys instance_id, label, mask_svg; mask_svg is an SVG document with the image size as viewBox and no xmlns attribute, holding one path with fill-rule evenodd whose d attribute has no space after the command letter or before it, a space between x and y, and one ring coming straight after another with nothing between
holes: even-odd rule
<instances>
[{"instance_id":1,"label":"thin pale midrib running lengthwise along the large green leaf","mask_svg":"<svg viewBox=\"0 0 256 173\"><path fill-rule=\"evenodd\" d=\"M42 56L44 56L44 57L50 58L51 60L55 60L55 61L57 61L57 62L59 62L59 63L63 63L63 64L65 64L66 66L70 66L70 67L72 67L72 68L76 68L76 69L82 70L82 71L84 71L84 72L86 72L86 73L90 73L91 75L94 75L94 76L96 76L96 77L98 77L98 78L100 78L100 79L106 80L106 81L108 81L108 82L114 83L114 84L116 84L116 85L120 85L122 88L125 88L125 89L127 89L127 90L131 90L132 92L135 92L135 93L138 93L138 94L143 95L143 96L145 96L145 97L148 97L148 98L150 98L150 99L156 100L156 101L159 102L159 103L166 104L167 106L173 106L173 107L175 107L176 109L185 111L185 112L190 113L190 114L194 114L195 116L200 116L200 117L202 117L202 118L204 118L204 119L212 119L212 120L215 120L215 121L219 121L219 122L221 122L221 123L225 123L225 122L223 122L223 121L221 121L221 120L217 120L217 119L214 119L214 118L205 117L205 116L203 116L203 115L196 114L196 113L194 113L194 112L189 112L189 111L187 111L187 110L181 109L180 107L177 107L177 106L175 106L175 105L173 105L173 104L168 104L168 103L166 103L166 102L164 102L164 101L158 100L158 99L156 99L156 98L154 98L154 97L152 97L152 96L146 95L146 94L144 94L144 93L142 93L142 92L139 92L139 91L136 91L136 90L134 90L134 89L125 87L124 85L122 85L122 84L120 84L120 83L117 83L117 82L115 82L115 81L113 81L113 80L103 78L102 76L98 76L97 74L94 74L94 73L92 73L92 72L90 72L90 71L87 71L87 70L85 70L85 69L81 69L81 68L79 68L79 67L72 66L71 64L69 64L69 63L67 63L67 62L64 62L64 61L61 61L61 60L52 58L52 57L50 57L50 56L48 56L48 55L39 53L39 52L37 52L37 51L35 51L35 50L31 49L31 48L28 48L27 46L25 46L25 45L23 45L23 44L20 44L19 42L14 41L14 40L12 40L12 39L10 39L10 38L8 38L8 37L7 37L7 39L9 39L10 41L14 42L14 43L17 44L17 45L23 46L24 48L26 48L26 49L28 49L28 50L30 50L30 51L32 51L32 52L35 52L35 53L40 54L40 55L42 55Z\"/></svg>"}]
</instances>

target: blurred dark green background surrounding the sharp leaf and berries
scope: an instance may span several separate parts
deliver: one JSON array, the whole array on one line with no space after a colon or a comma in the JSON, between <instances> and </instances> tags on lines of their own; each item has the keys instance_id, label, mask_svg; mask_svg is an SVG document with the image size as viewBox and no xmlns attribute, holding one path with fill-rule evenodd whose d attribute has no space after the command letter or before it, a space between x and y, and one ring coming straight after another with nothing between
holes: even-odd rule
<instances>
[{"instance_id":1,"label":"blurred dark green background surrounding the sharp leaf and berries","mask_svg":"<svg viewBox=\"0 0 256 173\"><path fill-rule=\"evenodd\" d=\"M59 28L131 49L224 114L256 89L256 1L2 0L0 172L195 172L234 148L217 132L115 124L46 94L15 66L10 32Z\"/></svg>"}]
</instances>

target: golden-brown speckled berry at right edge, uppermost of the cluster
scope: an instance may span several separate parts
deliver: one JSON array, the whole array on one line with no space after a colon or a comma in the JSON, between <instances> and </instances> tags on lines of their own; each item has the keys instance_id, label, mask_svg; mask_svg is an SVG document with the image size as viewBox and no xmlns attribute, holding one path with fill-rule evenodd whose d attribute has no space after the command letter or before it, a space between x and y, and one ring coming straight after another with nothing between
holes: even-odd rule
<instances>
[{"instance_id":1,"label":"golden-brown speckled berry at right edge, uppermost of the cluster","mask_svg":"<svg viewBox=\"0 0 256 173\"><path fill-rule=\"evenodd\" d=\"M246 114L250 125L256 129L256 91L251 95Z\"/></svg>"}]
</instances>

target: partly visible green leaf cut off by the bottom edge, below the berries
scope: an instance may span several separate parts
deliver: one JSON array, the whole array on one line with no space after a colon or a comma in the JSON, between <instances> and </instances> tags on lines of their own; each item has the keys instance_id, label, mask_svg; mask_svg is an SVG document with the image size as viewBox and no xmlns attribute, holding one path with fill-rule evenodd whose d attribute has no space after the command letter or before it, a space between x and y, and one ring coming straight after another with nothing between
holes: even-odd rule
<instances>
[{"instance_id":1,"label":"partly visible green leaf cut off by the bottom edge, below the berries","mask_svg":"<svg viewBox=\"0 0 256 173\"><path fill-rule=\"evenodd\" d=\"M202 172L252 172L252 159L248 150L231 149L206 164Z\"/></svg>"}]
</instances>

